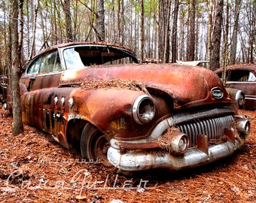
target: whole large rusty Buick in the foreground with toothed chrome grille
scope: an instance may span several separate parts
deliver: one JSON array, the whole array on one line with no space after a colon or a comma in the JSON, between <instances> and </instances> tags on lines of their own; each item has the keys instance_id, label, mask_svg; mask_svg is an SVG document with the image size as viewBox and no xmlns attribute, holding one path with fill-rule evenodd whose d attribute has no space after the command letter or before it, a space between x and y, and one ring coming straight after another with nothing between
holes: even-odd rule
<instances>
[{"instance_id":1,"label":"whole large rusty Buick in the foreground with toothed chrome grille","mask_svg":"<svg viewBox=\"0 0 256 203\"><path fill-rule=\"evenodd\" d=\"M25 123L123 171L204 165L230 156L250 129L214 72L139 64L113 44L42 51L20 78L20 95Z\"/></svg>"}]
</instances>

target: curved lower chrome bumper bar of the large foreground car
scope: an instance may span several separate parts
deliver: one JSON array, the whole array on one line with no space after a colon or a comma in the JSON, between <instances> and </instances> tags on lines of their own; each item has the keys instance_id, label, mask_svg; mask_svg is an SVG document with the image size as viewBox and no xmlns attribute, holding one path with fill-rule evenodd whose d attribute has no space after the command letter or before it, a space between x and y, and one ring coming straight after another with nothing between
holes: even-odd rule
<instances>
[{"instance_id":1,"label":"curved lower chrome bumper bar of the large foreground car","mask_svg":"<svg viewBox=\"0 0 256 203\"><path fill-rule=\"evenodd\" d=\"M226 141L222 144L209 146L208 154L197 148L191 148L182 156L175 156L164 150L154 153L131 150L122 154L120 150L110 147L108 149L108 160L112 165L123 171L142 171L152 168L169 168L178 171L184 168L205 165L230 156L242 144L244 144L244 140L236 139L235 144L232 141Z\"/></svg>"}]
</instances>

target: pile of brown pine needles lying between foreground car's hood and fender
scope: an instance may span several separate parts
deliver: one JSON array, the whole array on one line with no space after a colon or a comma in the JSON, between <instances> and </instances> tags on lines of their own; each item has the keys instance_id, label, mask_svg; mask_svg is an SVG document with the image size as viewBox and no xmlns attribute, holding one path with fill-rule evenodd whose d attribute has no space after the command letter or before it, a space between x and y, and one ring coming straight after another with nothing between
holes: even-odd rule
<instances>
[{"instance_id":1,"label":"pile of brown pine needles lying between foreground car's hood and fender","mask_svg":"<svg viewBox=\"0 0 256 203\"><path fill-rule=\"evenodd\" d=\"M81 83L81 87L83 87L84 89L131 89L134 91L142 91L145 92L145 94L149 95L145 83L138 80L123 80L120 78L113 80L86 80Z\"/></svg>"}]
</instances>

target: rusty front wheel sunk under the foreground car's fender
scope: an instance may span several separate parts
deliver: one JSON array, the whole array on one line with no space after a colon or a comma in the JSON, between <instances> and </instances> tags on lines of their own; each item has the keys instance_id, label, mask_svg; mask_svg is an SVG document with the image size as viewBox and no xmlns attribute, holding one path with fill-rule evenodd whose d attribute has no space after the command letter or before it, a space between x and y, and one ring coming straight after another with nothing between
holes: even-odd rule
<instances>
[{"instance_id":1,"label":"rusty front wheel sunk under the foreground car's fender","mask_svg":"<svg viewBox=\"0 0 256 203\"><path fill-rule=\"evenodd\" d=\"M111 164L107 158L109 146L108 140L99 129L90 123L84 126L80 140L81 156L83 159L89 162L102 162L103 165L110 166Z\"/></svg>"}]
</instances>

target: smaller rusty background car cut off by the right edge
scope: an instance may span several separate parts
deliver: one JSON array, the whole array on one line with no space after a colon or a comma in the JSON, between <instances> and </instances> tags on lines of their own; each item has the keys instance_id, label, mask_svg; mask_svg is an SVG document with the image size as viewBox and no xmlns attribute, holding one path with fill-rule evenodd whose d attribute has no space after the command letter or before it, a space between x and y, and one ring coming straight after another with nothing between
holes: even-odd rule
<instances>
[{"instance_id":1,"label":"smaller rusty background car cut off by the right edge","mask_svg":"<svg viewBox=\"0 0 256 203\"><path fill-rule=\"evenodd\" d=\"M223 77L224 68L215 71L219 77ZM239 89L244 94L242 108L256 110L256 65L240 64L227 66L225 86L228 89ZM241 95L237 95L239 98Z\"/></svg>"}]
</instances>

